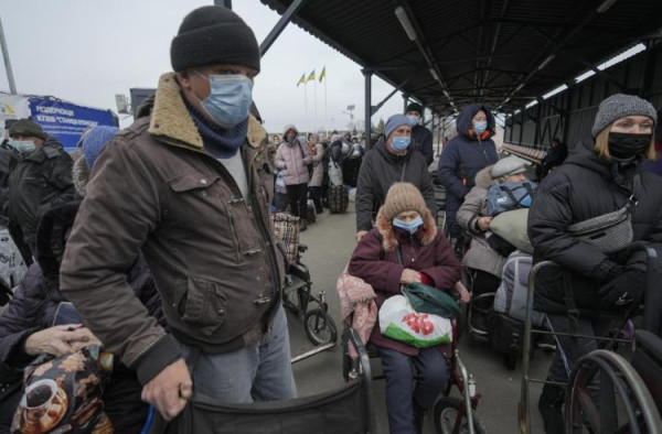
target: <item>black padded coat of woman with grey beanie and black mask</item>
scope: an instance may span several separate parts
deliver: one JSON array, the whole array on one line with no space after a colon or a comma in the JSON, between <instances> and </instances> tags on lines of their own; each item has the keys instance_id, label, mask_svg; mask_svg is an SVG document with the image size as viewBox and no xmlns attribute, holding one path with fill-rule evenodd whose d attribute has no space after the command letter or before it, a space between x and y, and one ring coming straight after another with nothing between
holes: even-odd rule
<instances>
[{"instance_id":1,"label":"black padded coat of woman with grey beanie and black mask","mask_svg":"<svg viewBox=\"0 0 662 434\"><path fill-rule=\"evenodd\" d=\"M535 282L534 308L565 313L564 275L569 279L579 307L597 310L596 291L604 283L616 256L607 256L577 241L568 225L622 208L632 192L636 173L641 188L632 215L634 241L662 241L662 178L642 172L642 162L622 165L607 162L592 150L592 142L577 144L563 165L540 184L528 211L528 237L534 263L552 260L563 270L543 269Z\"/></svg>"}]
</instances>

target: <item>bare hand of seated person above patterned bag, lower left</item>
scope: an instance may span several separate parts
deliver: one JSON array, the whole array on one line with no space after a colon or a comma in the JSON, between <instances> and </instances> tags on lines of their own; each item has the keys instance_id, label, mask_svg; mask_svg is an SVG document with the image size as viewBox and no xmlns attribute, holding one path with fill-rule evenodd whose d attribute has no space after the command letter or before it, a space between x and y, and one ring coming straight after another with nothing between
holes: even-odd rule
<instances>
[{"instance_id":1,"label":"bare hand of seated person above patterned bag, lower left","mask_svg":"<svg viewBox=\"0 0 662 434\"><path fill-rule=\"evenodd\" d=\"M28 336L24 349L30 356L47 352L57 357L97 343L100 344L99 339L88 328L81 324L66 324L44 328Z\"/></svg>"}]
</instances>

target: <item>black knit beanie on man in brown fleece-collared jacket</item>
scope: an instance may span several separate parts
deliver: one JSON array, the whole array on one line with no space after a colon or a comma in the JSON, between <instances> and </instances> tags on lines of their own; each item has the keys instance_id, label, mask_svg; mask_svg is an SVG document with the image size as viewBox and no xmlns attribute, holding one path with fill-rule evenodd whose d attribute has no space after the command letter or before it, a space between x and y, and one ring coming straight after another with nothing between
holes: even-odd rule
<instances>
[{"instance_id":1,"label":"black knit beanie on man in brown fleece-collared jacket","mask_svg":"<svg viewBox=\"0 0 662 434\"><path fill-rule=\"evenodd\" d=\"M175 72L225 63L259 72L259 46L248 25L233 11L205 6L189 13L170 45Z\"/></svg>"}]
</instances>

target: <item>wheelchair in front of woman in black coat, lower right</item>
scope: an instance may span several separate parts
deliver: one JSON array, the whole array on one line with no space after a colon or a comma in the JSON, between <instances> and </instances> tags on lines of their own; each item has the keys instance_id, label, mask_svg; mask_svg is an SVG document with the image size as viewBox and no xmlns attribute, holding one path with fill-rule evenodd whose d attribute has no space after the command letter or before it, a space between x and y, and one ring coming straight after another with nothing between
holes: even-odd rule
<instances>
[{"instance_id":1,"label":"wheelchair in front of woman in black coat, lower right","mask_svg":"<svg viewBox=\"0 0 662 434\"><path fill-rule=\"evenodd\" d=\"M567 384L559 384L565 386L565 432L662 433L660 417L660 409L662 409L662 339L650 332L637 330L634 333L637 350L632 356L632 365L630 365L626 358L615 352L618 346L632 344L632 339L620 336L620 329L611 329L606 337L534 330L531 312L535 276L543 268L547 267L560 265L552 261L542 261L533 267L528 275L526 312L530 314L524 322L524 354L531 351L534 333L590 338L600 343L599 349L577 361L575 368L569 372ZM607 349L609 347L611 350ZM531 432L528 405L531 382L548 383L549 381L530 378L530 360L528 357L523 357L521 397L517 409L520 433Z\"/></svg>"}]
</instances>

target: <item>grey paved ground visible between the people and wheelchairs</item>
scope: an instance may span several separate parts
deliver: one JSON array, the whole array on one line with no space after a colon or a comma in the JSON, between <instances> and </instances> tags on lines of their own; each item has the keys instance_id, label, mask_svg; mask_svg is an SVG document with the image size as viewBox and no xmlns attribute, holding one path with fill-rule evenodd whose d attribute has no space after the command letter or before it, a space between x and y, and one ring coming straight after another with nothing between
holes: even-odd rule
<instances>
[{"instance_id":1,"label":"grey paved ground visible between the people and wheelchairs","mask_svg":"<svg viewBox=\"0 0 662 434\"><path fill-rule=\"evenodd\" d=\"M338 294L335 293L335 281L345 267L354 250L354 211L353 203L350 209L342 215L329 215L328 209L318 216L318 223L310 225L302 234L302 242L309 246L303 256L311 271L313 291L324 290L329 303L330 313L335 319L339 328L340 311ZM299 355L312 348L303 332L300 318L289 315L292 355ZM460 344L460 357L467 365L478 383L478 391L483 398L479 404L479 416L490 433L516 433L517 402L520 400L521 364L515 371L508 371L501 356L490 350L485 344L477 343L469 336L465 336ZM532 361L533 377L543 377L551 360L548 354L541 350L535 352ZM322 354L318 354L307 360L295 365L295 376L300 395L308 395L329 390L338 386L342 380L342 357L340 347L335 347ZM378 366L378 361L376 361ZM383 381L375 383L376 419L378 433L387 433L384 386ZM457 389L453 390L457 394ZM540 387L532 387L532 420L533 433L543 433L535 403ZM424 433L434 433L434 422L426 420Z\"/></svg>"}]
</instances>

